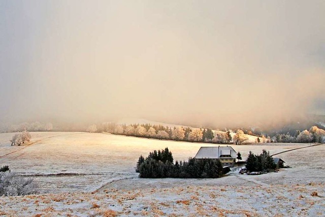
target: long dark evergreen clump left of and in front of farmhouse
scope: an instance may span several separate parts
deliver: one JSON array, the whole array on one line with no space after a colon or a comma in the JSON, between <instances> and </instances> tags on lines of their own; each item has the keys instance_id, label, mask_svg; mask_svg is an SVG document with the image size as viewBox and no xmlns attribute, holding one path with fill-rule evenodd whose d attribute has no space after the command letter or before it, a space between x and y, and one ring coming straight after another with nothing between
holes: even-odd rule
<instances>
[{"instance_id":1,"label":"long dark evergreen clump left of and in front of farmhouse","mask_svg":"<svg viewBox=\"0 0 325 217\"><path fill-rule=\"evenodd\" d=\"M222 175L222 165L217 159L193 159L176 161L168 148L154 150L144 159L140 156L136 172L141 178L218 178Z\"/></svg>"}]
</instances>

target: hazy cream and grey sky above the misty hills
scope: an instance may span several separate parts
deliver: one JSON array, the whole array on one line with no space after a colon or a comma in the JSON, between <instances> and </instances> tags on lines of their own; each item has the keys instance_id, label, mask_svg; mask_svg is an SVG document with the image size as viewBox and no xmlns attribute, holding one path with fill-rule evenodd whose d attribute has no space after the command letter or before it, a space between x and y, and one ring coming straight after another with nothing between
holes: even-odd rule
<instances>
[{"instance_id":1,"label":"hazy cream and grey sky above the misty hills","mask_svg":"<svg viewBox=\"0 0 325 217\"><path fill-rule=\"evenodd\" d=\"M325 111L325 1L0 0L0 122Z\"/></svg>"}]
</instances>

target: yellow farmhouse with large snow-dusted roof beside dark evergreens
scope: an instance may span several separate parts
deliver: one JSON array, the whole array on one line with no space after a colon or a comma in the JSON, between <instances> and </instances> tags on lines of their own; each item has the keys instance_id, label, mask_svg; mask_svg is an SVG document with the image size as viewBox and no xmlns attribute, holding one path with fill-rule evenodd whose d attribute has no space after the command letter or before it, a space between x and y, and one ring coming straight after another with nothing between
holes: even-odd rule
<instances>
[{"instance_id":1,"label":"yellow farmhouse with large snow-dusted roof beside dark evergreens","mask_svg":"<svg viewBox=\"0 0 325 217\"><path fill-rule=\"evenodd\" d=\"M231 146L201 147L194 158L219 159L222 166L234 166L237 152Z\"/></svg>"}]
</instances>

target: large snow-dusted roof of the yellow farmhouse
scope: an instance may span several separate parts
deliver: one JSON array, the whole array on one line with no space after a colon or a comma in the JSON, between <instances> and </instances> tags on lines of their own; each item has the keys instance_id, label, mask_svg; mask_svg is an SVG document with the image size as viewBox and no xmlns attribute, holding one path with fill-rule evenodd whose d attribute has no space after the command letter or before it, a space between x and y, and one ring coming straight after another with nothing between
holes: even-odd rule
<instances>
[{"instance_id":1,"label":"large snow-dusted roof of the yellow farmhouse","mask_svg":"<svg viewBox=\"0 0 325 217\"><path fill-rule=\"evenodd\" d=\"M231 156L231 158L236 158L237 152L231 146L201 147L194 158L218 159L221 155L228 155Z\"/></svg>"}]
</instances>

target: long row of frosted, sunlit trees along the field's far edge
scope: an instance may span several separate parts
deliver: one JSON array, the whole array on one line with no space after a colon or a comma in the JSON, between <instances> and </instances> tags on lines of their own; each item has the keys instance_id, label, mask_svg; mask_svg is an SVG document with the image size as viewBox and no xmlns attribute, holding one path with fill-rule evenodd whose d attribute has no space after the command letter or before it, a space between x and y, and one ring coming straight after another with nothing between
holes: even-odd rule
<instances>
[{"instance_id":1,"label":"long row of frosted, sunlit trees along the field's far edge","mask_svg":"<svg viewBox=\"0 0 325 217\"><path fill-rule=\"evenodd\" d=\"M134 124L134 125L115 125L115 123L103 123L100 127L90 125L87 128L88 132L108 132L118 135L137 136L146 138L158 139L172 139L178 141L190 142L209 142L217 144L231 144L240 145L242 142L248 140L247 135L243 130L237 130L233 136L230 131L215 133L211 129L198 129L189 127L165 127L161 125L150 124ZM274 137L263 135L256 137L256 143L260 142L284 142L284 143L309 143L320 142L325 143L325 131L313 126L309 131L297 131L294 136L290 134L277 134Z\"/></svg>"}]
</instances>

